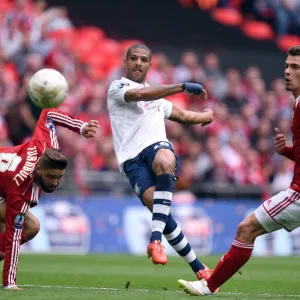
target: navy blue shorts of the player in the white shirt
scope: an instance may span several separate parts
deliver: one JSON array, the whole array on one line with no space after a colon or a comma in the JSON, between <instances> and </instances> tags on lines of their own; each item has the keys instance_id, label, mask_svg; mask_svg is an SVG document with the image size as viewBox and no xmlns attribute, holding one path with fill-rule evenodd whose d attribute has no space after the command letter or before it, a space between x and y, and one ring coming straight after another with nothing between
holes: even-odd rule
<instances>
[{"instance_id":1,"label":"navy blue shorts of the player in the white shirt","mask_svg":"<svg viewBox=\"0 0 300 300\"><path fill-rule=\"evenodd\" d=\"M144 192L156 184L156 174L152 170L152 162L159 149L170 149L176 157L171 143L157 142L145 148L135 158L127 160L123 166L132 188L142 202ZM176 180L175 174L174 180Z\"/></svg>"}]
</instances>

